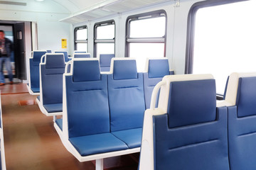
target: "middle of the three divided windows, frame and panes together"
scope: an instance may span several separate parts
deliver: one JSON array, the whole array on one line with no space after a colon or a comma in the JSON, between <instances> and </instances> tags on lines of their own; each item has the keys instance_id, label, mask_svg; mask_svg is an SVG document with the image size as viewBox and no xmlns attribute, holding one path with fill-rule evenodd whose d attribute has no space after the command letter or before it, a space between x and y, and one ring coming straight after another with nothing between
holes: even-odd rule
<instances>
[{"instance_id":1,"label":"middle of the three divided windows, frame and panes together","mask_svg":"<svg viewBox=\"0 0 256 170\"><path fill-rule=\"evenodd\" d=\"M96 23L94 57L99 57L100 54L114 54L114 37L114 21Z\"/></svg>"}]
</instances>

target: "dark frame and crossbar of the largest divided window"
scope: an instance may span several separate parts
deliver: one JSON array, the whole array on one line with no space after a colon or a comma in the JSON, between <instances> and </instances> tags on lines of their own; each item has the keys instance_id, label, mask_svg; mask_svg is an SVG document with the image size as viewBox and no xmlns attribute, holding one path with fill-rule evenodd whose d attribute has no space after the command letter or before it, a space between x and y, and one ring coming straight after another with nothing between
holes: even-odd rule
<instances>
[{"instance_id":1,"label":"dark frame and crossbar of the largest divided window","mask_svg":"<svg viewBox=\"0 0 256 170\"><path fill-rule=\"evenodd\" d=\"M165 34L161 38L129 38L130 35L130 23L132 21L139 21L149 18L158 18L164 16L166 25L165 25ZM130 57L130 43L164 43L164 57L166 57L166 37L167 37L167 13L164 9L157 11L150 11L146 13L139 13L136 15L128 16L125 27L125 57Z\"/></svg>"}]
</instances>

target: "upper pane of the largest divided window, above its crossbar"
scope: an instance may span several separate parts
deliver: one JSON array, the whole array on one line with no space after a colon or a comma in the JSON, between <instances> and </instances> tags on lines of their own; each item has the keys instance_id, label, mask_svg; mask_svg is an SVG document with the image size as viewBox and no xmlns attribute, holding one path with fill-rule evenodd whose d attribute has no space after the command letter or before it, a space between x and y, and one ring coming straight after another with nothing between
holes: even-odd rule
<instances>
[{"instance_id":1,"label":"upper pane of the largest divided window, above its crossbar","mask_svg":"<svg viewBox=\"0 0 256 170\"><path fill-rule=\"evenodd\" d=\"M148 18L130 23L129 38L160 38L165 35L166 18Z\"/></svg>"}]
</instances>

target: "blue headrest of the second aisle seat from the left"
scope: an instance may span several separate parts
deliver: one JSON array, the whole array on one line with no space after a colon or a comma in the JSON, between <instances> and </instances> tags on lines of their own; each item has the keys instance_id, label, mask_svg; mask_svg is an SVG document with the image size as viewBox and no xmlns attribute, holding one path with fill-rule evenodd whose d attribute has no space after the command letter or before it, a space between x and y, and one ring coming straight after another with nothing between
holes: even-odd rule
<instances>
[{"instance_id":1,"label":"blue headrest of the second aisle seat from the left","mask_svg":"<svg viewBox=\"0 0 256 170\"><path fill-rule=\"evenodd\" d=\"M65 60L63 54L46 54L46 69L65 68Z\"/></svg>"}]
</instances>

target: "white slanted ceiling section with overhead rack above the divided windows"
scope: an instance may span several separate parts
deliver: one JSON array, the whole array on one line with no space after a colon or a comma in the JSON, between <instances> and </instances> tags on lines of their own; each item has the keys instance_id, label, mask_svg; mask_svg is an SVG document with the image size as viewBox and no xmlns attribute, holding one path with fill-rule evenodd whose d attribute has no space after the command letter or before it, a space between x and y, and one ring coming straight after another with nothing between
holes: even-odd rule
<instances>
[{"instance_id":1,"label":"white slanted ceiling section with overhead rack above the divided windows","mask_svg":"<svg viewBox=\"0 0 256 170\"><path fill-rule=\"evenodd\" d=\"M80 23L93 19L122 13L135 8L174 0L53 0L68 8L71 15L60 21Z\"/></svg>"}]
</instances>

